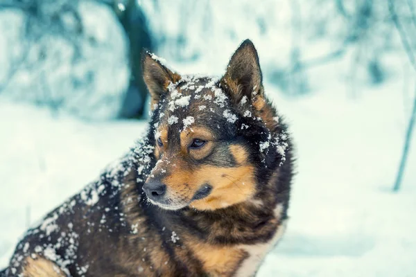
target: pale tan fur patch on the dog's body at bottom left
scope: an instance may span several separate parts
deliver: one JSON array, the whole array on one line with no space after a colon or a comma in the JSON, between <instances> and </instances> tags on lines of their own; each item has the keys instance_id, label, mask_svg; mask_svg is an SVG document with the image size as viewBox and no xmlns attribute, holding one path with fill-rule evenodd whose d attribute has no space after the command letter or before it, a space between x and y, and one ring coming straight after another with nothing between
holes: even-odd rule
<instances>
[{"instance_id":1,"label":"pale tan fur patch on the dog's body at bottom left","mask_svg":"<svg viewBox=\"0 0 416 277\"><path fill-rule=\"evenodd\" d=\"M66 275L50 260L44 258L26 258L24 277L65 277Z\"/></svg>"}]
</instances>

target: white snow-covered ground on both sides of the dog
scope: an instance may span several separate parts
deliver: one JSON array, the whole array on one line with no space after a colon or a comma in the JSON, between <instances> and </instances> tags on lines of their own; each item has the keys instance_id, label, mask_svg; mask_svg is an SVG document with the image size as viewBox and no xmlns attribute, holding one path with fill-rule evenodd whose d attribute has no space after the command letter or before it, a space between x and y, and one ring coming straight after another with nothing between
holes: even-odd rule
<instances>
[{"instance_id":1,"label":"white snow-covered ground on both sides of the dog","mask_svg":"<svg viewBox=\"0 0 416 277\"><path fill-rule=\"evenodd\" d=\"M416 276L416 139L403 188L391 193L413 87L403 93L392 78L351 98L348 82L329 74L339 69L313 71L319 90L302 98L266 84L291 124L298 174L288 231L259 276ZM4 267L28 224L123 154L144 123L85 123L0 98L0 130Z\"/></svg>"}]
</instances>

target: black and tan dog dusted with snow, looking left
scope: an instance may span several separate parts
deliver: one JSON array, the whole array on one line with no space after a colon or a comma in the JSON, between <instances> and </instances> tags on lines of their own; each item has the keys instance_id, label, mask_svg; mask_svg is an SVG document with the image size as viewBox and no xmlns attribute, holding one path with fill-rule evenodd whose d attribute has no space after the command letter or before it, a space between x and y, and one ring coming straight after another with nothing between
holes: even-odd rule
<instances>
[{"instance_id":1,"label":"black and tan dog dusted with snow, looking left","mask_svg":"<svg viewBox=\"0 0 416 277\"><path fill-rule=\"evenodd\" d=\"M219 79L142 56L143 139L29 229L2 276L254 276L283 235L293 144L252 42Z\"/></svg>"}]
</instances>

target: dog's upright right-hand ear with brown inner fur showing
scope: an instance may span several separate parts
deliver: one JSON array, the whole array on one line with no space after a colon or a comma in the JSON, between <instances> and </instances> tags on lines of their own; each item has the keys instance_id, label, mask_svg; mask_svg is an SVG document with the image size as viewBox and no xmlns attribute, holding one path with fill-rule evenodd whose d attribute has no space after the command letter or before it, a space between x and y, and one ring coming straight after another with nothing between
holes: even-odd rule
<instances>
[{"instance_id":1,"label":"dog's upright right-hand ear with brown inner fur showing","mask_svg":"<svg viewBox=\"0 0 416 277\"><path fill-rule=\"evenodd\" d=\"M234 52L220 84L236 104L244 96L251 102L263 93L259 56L250 39L245 39Z\"/></svg>"}]
</instances>

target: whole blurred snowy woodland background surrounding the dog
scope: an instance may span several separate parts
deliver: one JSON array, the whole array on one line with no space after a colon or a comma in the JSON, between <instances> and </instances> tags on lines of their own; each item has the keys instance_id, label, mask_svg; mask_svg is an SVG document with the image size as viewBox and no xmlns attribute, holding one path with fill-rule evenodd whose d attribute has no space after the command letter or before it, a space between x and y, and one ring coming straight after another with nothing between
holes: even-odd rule
<instances>
[{"instance_id":1,"label":"whole blurred snowy woodland background surrounding the dog","mask_svg":"<svg viewBox=\"0 0 416 277\"><path fill-rule=\"evenodd\" d=\"M258 276L416 276L415 0L0 0L0 267L144 134L140 53L222 75L246 38L286 116L288 231Z\"/></svg>"}]
</instances>

